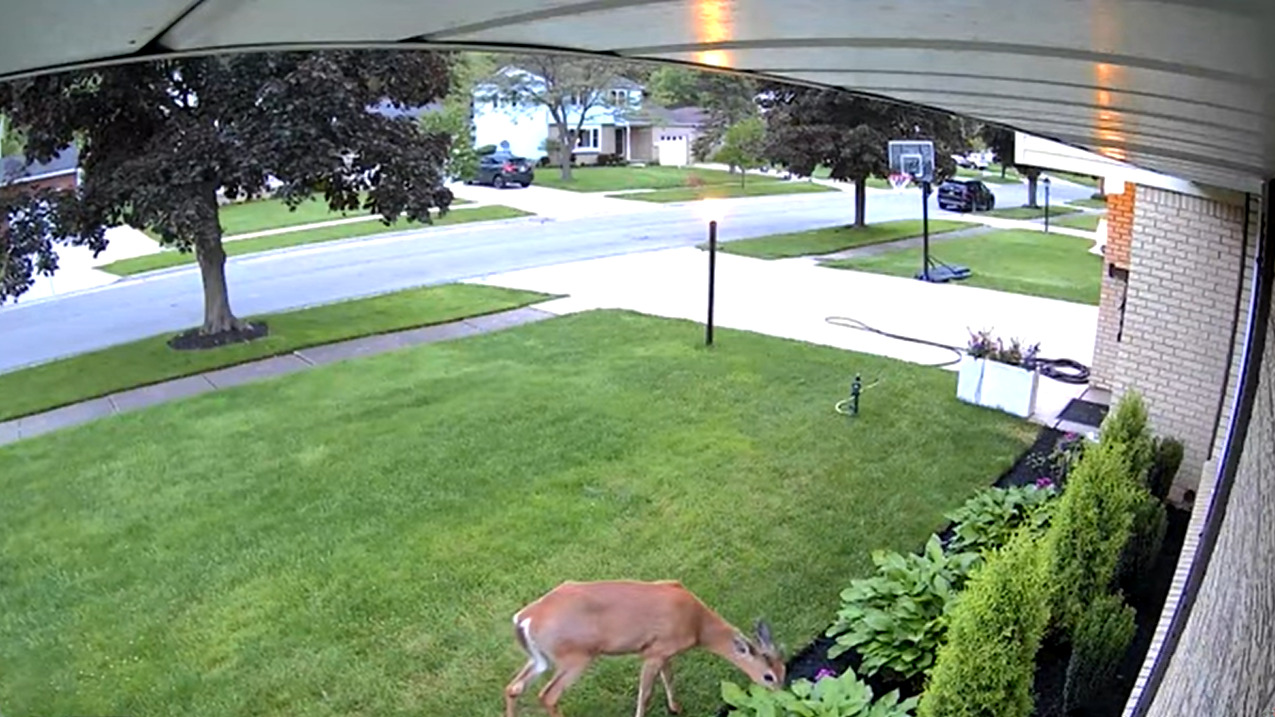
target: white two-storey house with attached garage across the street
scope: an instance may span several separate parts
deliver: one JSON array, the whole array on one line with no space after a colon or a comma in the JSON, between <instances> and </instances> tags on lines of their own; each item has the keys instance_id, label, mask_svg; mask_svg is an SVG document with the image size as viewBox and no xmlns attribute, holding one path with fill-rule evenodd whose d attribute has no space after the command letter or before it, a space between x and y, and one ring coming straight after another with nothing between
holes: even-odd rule
<instances>
[{"instance_id":1,"label":"white two-storey house with attached garage across the street","mask_svg":"<svg viewBox=\"0 0 1275 717\"><path fill-rule=\"evenodd\" d=\"M523 73L506 68L505 73ZM530 73L524 73L530 74ZM533 77L533 82L539 78ZM602 154L615 154L632 162L691 163L691 143L704 121L696 107L664 110L646 106L644 89L635 82L617 78L606 91L607 102L590 107L580 126L574 156L579 165L597 163ZM496 97L495 87L474 88L474 145L495 145L529 159L547 157L546 140L557 138L557 128L544 105L534 101L511 102ZM567 112L569 126L580 120L580 103Z\"/></svg>"}]
</instances>

